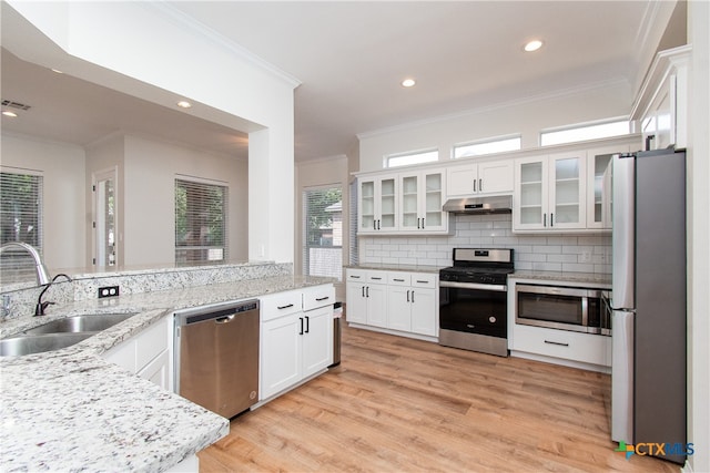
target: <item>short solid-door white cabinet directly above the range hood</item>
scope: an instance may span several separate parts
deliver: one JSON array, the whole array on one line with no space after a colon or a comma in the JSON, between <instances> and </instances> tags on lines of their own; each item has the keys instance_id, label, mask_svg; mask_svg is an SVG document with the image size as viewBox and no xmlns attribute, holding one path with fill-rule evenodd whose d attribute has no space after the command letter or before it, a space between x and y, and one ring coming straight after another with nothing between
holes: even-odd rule
<instances>
[{"instance_id":1,"label":"short solid-door white cabinet directly above the range hood","mask_svg":"<svg viewBox=\"0 0 710 473\"><path fill-rule=\"evenodd\" d=\"M514 161L468 163L446 169L447 197L477 194L509 194L514 188Z\"/></svg>"}]
</instances>

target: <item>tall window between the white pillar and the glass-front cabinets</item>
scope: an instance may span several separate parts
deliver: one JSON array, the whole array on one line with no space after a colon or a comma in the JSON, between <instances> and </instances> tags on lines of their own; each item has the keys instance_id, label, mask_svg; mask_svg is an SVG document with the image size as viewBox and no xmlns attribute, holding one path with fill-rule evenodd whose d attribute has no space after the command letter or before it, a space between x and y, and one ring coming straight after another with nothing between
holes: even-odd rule
<instances>
[{"instance_id":1,"label":"tall window between the white pillar and the glass-front cabinets","mask_svg":"<svg viewBox=\"0 0 710 473\"><path fill-rule=\"evenodd\" d=\"M303 192L303 274L343 276L343 189Z\"/></svg>"}]
</instances>

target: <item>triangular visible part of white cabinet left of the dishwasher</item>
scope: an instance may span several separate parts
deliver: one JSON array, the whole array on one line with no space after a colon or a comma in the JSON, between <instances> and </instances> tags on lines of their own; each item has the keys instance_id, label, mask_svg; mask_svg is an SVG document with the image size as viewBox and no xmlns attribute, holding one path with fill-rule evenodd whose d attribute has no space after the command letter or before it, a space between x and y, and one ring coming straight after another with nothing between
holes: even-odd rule
<instances>
[{"instance_id":1,"label":"triangular visible part of white cabinet left of the dishwasher","mask_svg":"<svg viewBox=\"0 0 710 473\"><path fill-rule=\"evenodd\" d=\"M165 317L111 348L103 353L103 358L172 391L172 329L173 317Z\"/></svg>"}]
</instances>

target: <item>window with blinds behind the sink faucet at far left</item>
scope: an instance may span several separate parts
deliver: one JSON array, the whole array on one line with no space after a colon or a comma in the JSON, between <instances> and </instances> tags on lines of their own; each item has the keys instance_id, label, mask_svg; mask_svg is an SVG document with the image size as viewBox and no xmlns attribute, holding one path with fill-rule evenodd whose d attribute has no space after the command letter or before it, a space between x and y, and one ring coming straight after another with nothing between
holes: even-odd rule
<instances>
[{"instance_id":1,"label":"window with blinds behind the sink faucet at far left","mask_svg":"<svg viewBox=\"0 0 710 473\"><path fill-rule=\"evenodd\" d=\"M42 176L27 171L0 173L0 245L22 241L42 253ZM34 278L34 261L24 250L2 254L3 280Z\"/></svg>"}]
</instances>

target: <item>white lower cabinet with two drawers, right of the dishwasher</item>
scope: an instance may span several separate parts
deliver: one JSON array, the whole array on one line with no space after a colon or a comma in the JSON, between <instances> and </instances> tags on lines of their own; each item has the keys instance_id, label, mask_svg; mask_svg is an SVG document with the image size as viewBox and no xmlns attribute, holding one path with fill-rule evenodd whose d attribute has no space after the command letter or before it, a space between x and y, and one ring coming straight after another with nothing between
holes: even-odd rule
<instances>
[{"instance_id":1,"label":"white lower cabinet with two drawers, right of the dishwasher","mask_svg":"<svg viewBox=\"0 0 710 473\"><path fill-rule=\"evenodd\" d=\"M260 401L332 363L334 299L332 285L261 298Z\"/></svg>"}]
</instances>

